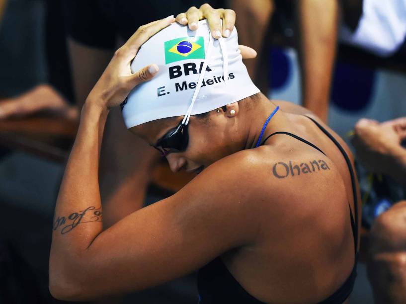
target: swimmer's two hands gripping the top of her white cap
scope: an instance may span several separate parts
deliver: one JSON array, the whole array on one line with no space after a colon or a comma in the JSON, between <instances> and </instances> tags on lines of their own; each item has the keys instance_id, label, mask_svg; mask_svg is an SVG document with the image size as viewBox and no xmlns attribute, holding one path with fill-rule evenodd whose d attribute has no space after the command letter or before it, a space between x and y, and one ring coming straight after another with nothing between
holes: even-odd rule
<instances>
[{"instance_id":1,"label":"swimmer's two hands gripping the top of her white cap","mask_svg":"<svg viewBox=\"0 0 406 304\"><path fill-rule=\"evenodd\" d=\"M213 9L208 4L203 4L199 9L191 7L186 13L179 14L176 18L181 24L189 24L189 27L196 29L198 21L207 18L210 30L216 33L223 20L223 35L233 30L235 23L235 13L228 9ZM186 20L186 21L185 21ZM114 54L107 68L90 91L86 102L95 103L101 109L110 109L118 106L127 97L129 92L138 84L152 79L158 72L159 67L151 63L140 71L131 73L131 61L135 58L140 47L153 35L158 33L169 24L173 23L175 18L172 16L157 20L141 26L130 39L120 47ZM255 58L256 52L246 46L239 46L244 59Z\"/></svg>"}]
</instances>

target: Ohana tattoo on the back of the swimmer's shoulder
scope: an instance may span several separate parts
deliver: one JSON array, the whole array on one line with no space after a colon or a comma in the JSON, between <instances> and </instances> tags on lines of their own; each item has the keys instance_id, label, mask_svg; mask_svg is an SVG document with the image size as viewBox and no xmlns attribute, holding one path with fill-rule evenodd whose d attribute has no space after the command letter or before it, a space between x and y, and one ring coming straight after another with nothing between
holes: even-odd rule
<instances>
[{"instance_id":1,"label":"Ohana tattoo on the back of the swimmer's shoulder","mask_svg":"<svg viewBox=\"0 0 406 304\"><path fill-rule=\"evenodd\" d=\"M296 164L289 160L289 163L279 161L272 167L272 173L277 178L286 178L289 176L296 176L300 174L309 174L323 170L330 170L330 167L323 159L309 160Z\"/></svg>"}]
</instances>

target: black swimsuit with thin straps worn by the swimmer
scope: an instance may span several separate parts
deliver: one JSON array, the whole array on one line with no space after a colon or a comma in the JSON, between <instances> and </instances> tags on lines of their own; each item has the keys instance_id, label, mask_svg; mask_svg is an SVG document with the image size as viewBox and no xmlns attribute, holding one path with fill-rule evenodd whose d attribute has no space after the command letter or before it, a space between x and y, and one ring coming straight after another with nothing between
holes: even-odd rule
<instances>
[{"instance_id":1,"label":"black swimsuit with thin straps worn by the swimmer","mask_svg":"<svg viewBox=\"0 0 406 304\"><path fill-rule=\"evenodd\" d=\"M308 116L306 116L308 117ZM351 218L351 228L352 234L354 237L354 248L355 248L355 262L352 268L352 272L341 285L341 287L330 297L325 299L324 301L320 302L321 304L341 304L343 303L348 296L352 292L352 288L354 287L357 267L357 260L358 260L358 201L357 201L357 192L356 192L356 183L355 183L355 175L354 171L351 166L350 159L348 158L347 153L341 147L341 145L337 142L337 140L328 133L327 130L323 126L321 126L317 121L311 119L319 128L322 130L325 135L337 146L340 150L342 155L345 158L345 161L348 166L348 170L351 176L351 184L352 184L352 193L354 196L354 217L352 216L351 207L349 206L349 213ZM322 150L318 147L313 145L312 143L306 141L305 139L298 137L292 133L288 132L275 132L269 135L261 144L261 146L273 135L276 134L286 134L296 138L297 140L306 143L313 148L317 149L318 151L325 154ZM349 203L348 203L349 205ZM355 218L355 220L354 220ZM240 285L240 283L233 277L230 271L227 269L226 265L224 265L221 257L217 257L203 268L201 268L197 274L197 287L199 290L199 303L200 304L216 304L216 303L248 303L248 304L261 304L262 302L252 297L248 294L244 288Z\"/></svg>"}]
</instances>

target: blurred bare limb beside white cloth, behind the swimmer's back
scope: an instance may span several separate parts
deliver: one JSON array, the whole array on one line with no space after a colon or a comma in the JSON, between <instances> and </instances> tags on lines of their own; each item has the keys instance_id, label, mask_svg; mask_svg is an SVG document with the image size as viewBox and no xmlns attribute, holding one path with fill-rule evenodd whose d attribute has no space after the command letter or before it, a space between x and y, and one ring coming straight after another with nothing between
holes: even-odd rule
<instances>
[{"instance_id":1,"label":"blurred bare limb beside white cloth, behind the swimmer's back","mask_svg":"<svg viewBox=\"0 0 406 304\"><path fill-rule=\"evenodd\" d=\"M334 66L337 28L337 0L297 2L303 105L327 120L329 91Z\"/></svg>"}]
</instances>

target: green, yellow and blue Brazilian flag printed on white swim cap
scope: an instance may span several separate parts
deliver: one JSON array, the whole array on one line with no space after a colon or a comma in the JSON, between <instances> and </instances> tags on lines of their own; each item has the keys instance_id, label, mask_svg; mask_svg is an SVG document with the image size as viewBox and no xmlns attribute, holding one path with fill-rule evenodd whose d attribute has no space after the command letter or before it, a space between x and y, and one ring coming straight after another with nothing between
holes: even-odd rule
<instances>
[{"instance_id":1,"label":"green, yellow and blue Brazilian flag printed on white swim cap","mask_svg":"<svg viewBox=\"0 0 406 304\"><path fill-rule=\"evenodd\" d=\"M204 59L204 39L183 37L165 41L165 64L186 59Z\"/></svg>"}]
</instances>

